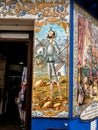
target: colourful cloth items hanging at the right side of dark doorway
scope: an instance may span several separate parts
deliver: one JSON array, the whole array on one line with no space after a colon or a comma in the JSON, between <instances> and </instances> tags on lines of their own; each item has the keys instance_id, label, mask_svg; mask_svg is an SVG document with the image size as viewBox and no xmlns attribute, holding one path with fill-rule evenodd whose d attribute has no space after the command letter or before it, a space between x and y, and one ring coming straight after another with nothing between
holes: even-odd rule
<instances>
[{"instance_id":1,"label":"colourful cloth items hanging at the right side of dark doorway","mask_svg":"<svg viewBox=\"0 0 98 130\"><path fill-rule=\"evenodd\" d=\"M21 127L25 127L25 116L26 116L26 87L27 87L27 67L23 68L21 89L19 91L17 104L21 120Z\"/></svg>"}]
</instances>

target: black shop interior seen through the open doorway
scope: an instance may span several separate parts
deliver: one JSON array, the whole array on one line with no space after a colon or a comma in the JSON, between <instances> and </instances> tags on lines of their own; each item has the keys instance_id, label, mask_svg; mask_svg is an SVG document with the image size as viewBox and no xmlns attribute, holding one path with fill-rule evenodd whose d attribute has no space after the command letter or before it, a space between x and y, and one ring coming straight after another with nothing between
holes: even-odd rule
<instances>
[{"instance_id":1,"label":"black shop interior seen through the open doorway","mask_svg":"<svg viewBox=\"0 0 98 130\"><path fill-rule=\"evenodd\" d=\"M0 130L5 123L15 125L18 130L20 125L19 111L16 99L21 87L23 67L27 66L28 43L25 41L0 41L0 60L5 63L1 65L0 71L4 71L4 86L0 87L2 106L0 112ZM3 69L2 69L3 68ZM17 80L17 81L15 81ZM16 83L15 83L16 82ZM17 125L17 126L16 126ZM13 129L15 129L13 127Z\"/></svg>"}]
</instances>

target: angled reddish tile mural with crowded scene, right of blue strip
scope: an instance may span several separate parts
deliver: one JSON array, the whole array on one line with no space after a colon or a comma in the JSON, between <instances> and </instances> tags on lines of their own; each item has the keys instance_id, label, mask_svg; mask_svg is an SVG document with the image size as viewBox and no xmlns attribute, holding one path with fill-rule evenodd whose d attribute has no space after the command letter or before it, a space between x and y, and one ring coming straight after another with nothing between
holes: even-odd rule
<instances>
[{"instance_id":1,"label":"angled reddish tile mural with crowded scene, right of blue strip","mask_svg":"<svg viewBox=\"0 0 98 130\"><path fill-rule=\"evenodd\" d=\"M98 102L98 23L75 6L73 116Z\"/></svg>"}]
</instances>

